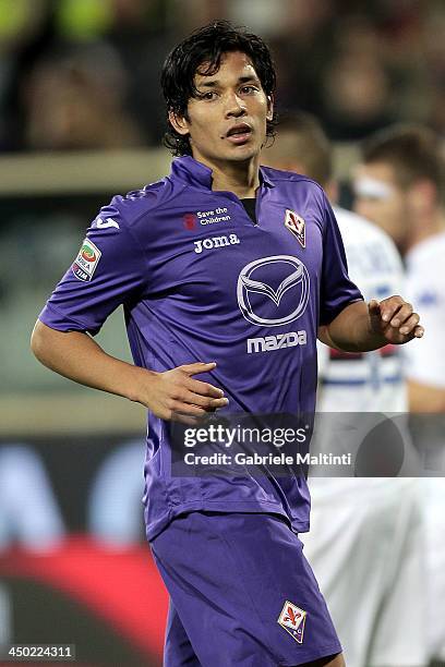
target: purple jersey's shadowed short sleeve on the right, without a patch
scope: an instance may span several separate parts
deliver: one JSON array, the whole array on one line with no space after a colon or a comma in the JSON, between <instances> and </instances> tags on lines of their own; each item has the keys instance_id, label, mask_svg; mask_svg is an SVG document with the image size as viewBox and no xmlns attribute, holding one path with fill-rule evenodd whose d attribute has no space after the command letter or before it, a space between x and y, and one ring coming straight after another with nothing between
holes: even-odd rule
<instances>
[{"instance_id":1,"label":"purple jersey's shadowed short sleeve on the right, without a patch","mask_svg":"<svg viewBox=\"0 0 445 667\"><path fill-rule=\"evenodd\" d=\"M328 325L350 303L363 295L348 276L348 264L337 220L324 195L323 267L320 290L320 325Z\"/></svg>"}]
</instances>

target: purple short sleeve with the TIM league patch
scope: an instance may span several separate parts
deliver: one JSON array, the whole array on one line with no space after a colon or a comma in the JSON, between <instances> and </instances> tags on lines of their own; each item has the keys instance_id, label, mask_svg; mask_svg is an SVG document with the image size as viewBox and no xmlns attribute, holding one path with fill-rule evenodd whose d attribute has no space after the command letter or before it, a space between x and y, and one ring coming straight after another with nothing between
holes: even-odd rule
<instances>
[{"instance_id":1,"label":"purple short sleeve with the TIM league patch","mask_svg":"<svg viewBox=\"0 0 445 667\"><path fill-rule=\"evenodd\" d=\"M103 208L39 319L60 331L96 335L119 305L144 290L145 264L143 248L119 210Z\"/></svg>"}]
</instances>

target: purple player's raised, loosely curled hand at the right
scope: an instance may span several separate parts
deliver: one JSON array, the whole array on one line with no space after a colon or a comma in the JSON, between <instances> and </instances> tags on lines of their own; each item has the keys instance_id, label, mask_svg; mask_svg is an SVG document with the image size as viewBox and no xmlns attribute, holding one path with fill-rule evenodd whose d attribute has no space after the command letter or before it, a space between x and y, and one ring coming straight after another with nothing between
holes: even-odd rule
<instances>
[{"instance_id":1,"label":"purple player's raised, loosely curled hand at the right","mask_svg":"<svg viewBox=\"0 0 445 667\"><path fill-rule=\"evenodd\" d=\"M373 299L368 304L368 312L372 333L382 336L388 343L401 345L424 333L419 315L401 296L389 296L381 302Z\"/></svg>"}]
</instances>

